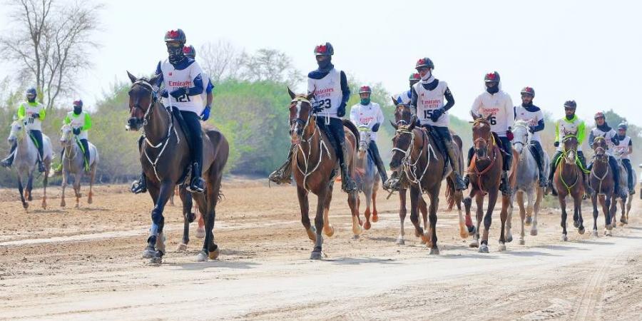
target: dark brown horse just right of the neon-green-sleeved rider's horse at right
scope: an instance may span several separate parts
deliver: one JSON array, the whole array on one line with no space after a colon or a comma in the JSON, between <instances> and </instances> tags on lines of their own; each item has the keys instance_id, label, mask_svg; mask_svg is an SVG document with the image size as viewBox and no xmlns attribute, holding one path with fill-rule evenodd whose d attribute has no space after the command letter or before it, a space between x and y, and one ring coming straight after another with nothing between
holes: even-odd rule
<instances>
[{"instance_id":1,"label":"dark brown horse just right of the neon-green-sleeved rider's horse at right","mask_svg":"<svg viewBox=\"0 0 642 321\"><path fill-rule=\"evenodd\" d=\"M608 154L606 149L606 138L598 136L593 141L593 152L595 153L595 160L591 168L591 176L588 178L588 183L591 184L593 193L591 194L591 203L593 203L593 236L597 236L597 217L598 217L598 198L604 214L604 234L611 235L613 226L611 221L616 214L616 196L613 193L615 188L615 180L613 179L613 170L611 165L608 164Z\"/></svg>"}]
</instances>

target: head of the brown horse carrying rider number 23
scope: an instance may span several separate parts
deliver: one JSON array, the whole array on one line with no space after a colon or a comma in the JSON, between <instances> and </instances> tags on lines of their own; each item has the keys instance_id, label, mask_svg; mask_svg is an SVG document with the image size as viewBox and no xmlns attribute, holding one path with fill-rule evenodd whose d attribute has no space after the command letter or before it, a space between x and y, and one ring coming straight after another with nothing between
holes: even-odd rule
<instances>
[{"instance_id":1,"label":"head of the brown horse carrying rider number 23","mask_svg":"<svg viewBox=\"0 0 642 321\"><path fill-rule=\"evenodd\" d=\"M312 113L312 103L310 100L314 97L314 91L307 95L302 93L294 93L287 87L287 93L290 93L290 141L292 145L301 143L302 138L305 136L304 131L310 132L315 126L309 126L310 122L314 122ZM310 138L312 133L307 133Z\"/></svg>"}]
</instances>

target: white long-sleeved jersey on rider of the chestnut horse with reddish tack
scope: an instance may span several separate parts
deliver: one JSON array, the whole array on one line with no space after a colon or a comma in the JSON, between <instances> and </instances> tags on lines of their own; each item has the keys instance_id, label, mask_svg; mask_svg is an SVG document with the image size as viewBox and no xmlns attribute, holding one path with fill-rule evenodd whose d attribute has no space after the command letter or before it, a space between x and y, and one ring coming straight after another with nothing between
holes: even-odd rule
<instances>
[{"instance_id":1,"label":"white long-sleeved jersey on rider of the chestnut horse with reddish tack","mask_svg":"<svg viewBox=\"0 0 642 321\"><path fill-rule=\"evenodd\" d=\"M487 91L475 98L470 111L476 116L487 118L490 116L491 131L499 137L506 137L506 131L512 128L515 121L515 111L511 96L499 90L494 95Z\"/></svg>"}]
</instances>

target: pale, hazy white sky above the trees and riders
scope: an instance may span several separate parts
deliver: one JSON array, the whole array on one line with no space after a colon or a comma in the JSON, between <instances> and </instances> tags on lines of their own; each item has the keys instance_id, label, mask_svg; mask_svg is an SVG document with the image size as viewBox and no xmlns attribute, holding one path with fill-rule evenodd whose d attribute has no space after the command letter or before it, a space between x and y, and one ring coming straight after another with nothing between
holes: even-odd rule
<instances>
[{"instance_id":1,"label":"pale, hazy white sky above the trees and riders","mask_svg":"<svg viewBox=\"0 0 642 321\"><path fill-rule=\"evenodd\" d=\"M283 51L304 74L316 68L314 47L330 41L335 67L390 93L407 90L414 63L427 56L461 118L484 90L484 74L498 71L515 105L531 86L534 103L556 118L574 99L586 120L612 108L642 125L640 12L640 1L112 0L101 13L95 64L77 75L78 96L91 106L128 80L126 70L151 73L166 57L165 31L180 28L197 49L224 39L249 52ZM0 67L0 78L12 74L8 63Z\"/></svg>"}]
</instances>

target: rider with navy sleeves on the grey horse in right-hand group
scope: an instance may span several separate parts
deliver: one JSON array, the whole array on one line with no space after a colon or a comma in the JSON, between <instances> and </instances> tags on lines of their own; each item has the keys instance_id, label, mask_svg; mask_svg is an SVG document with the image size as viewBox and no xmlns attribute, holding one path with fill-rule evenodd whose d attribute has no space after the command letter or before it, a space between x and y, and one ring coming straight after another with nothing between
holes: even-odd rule
<instances>
[{"instance_id":1,"label":"rider with navy sleeves on the grey horse in right-hand group","mask_svg":"<svg viewBox=\"0 0 642 321\"><path fill-rule=\"evenodd\" d=\"M515 107L515 120L529 122L529 131L533 134L529 148L539 168L539 185L546 187L548 183L546 183L546 168L544 168L544 149L541 148L539 137L539 132L544 130L544 113L539 107L533 105L533 98L535 98L535 89L532 87L521 89L521 106Z\"/></svg>"}]
</instances>

